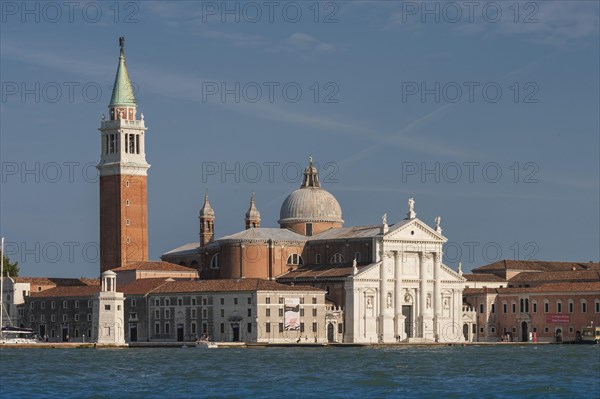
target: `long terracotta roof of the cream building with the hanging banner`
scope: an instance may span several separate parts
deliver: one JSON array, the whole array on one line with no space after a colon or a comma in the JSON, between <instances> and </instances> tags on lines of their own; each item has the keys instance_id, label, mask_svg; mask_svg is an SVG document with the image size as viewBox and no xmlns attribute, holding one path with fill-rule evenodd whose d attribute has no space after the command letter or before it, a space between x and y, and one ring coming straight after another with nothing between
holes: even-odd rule
<instances>
[{"instance_id":1,"label":"long terracotta roof of the cream building with the hanging banner","mask_svg":"<svg viewBox=\"0 0 600 399\"><path fill-rule=\"evenodd\" d=\"M223 279L223 280L187 280L168 281L157 287L152 293L168 292L226 292L226 291L317 291L315 287L285 285L259 278Z\"/></svg>"}]
</instances>

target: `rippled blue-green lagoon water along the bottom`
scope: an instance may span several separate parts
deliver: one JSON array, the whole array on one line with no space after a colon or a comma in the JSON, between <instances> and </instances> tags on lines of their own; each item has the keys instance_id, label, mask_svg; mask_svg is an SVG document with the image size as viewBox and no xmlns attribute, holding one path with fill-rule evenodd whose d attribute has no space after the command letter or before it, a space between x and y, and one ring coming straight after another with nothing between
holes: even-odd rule
<instances>
[{"instance_id":1,"label":"rippled blue-green lagoon water along the bottom","mask_svg":"<svg viewBox=\"0 0 600 399\"><path fill-rule=\"evenodd\" d=\"M600 398L600 345L0 349L2 398Z\"/></svg>"}]
</instances>

